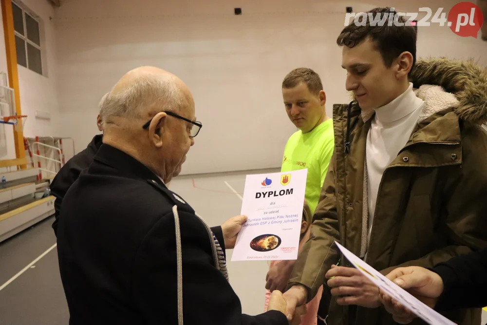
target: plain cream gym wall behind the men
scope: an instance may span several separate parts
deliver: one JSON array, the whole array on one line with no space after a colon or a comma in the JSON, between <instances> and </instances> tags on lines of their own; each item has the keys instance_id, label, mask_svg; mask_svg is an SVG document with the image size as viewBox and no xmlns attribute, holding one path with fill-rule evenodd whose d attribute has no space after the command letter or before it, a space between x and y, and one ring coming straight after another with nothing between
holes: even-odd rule
<instances>
[{"instance_id":1,"label":"plain cream gym wall behind the men","mask_svg":"<svg viewBox=\"0 0 487 325\"><path fill-rule=\"evenodd\" d=\"M47 1L38 2L39 12L51 16ZM183 174L279 167L286 140L296 130L282 104L287 72L300 66L318 72L328 115L334 103L349 101L336 45L346 6L355 12L385 5L418 12L428 6L434 14L440 6L448 13L458 1L404 2L63 0L52 21L42 17L48 22L48 76L34 82L19 67L22 112L31 116L29 132L72 136L79 152L98 133L101 96L128 70L154 65L187 83L203 123ZM236 7L242 15L234 14ZM418 57L474 55L487 65L486 47L480 36L462 38L434 23L419 27ZM58 112L52 114L56 124L54 119L49 126L30 124L37 123L32 117L37 108L30 109L35 103Z\"/></svg>"}]
</instances>

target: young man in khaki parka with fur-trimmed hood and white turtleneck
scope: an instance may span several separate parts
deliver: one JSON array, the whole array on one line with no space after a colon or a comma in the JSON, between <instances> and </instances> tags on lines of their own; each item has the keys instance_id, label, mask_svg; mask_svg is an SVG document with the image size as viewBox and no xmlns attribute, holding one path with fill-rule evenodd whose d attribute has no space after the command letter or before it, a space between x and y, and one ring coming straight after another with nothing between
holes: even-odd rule
<instances>
[{"instance_id":1,"label":"young man in khaki parka with fur-trimmed hood and white turtleneck","mask_svg":"<svg viewBox=\"0 0 487 325\"><path fill-rule=\"evenodd\" d=\"M327 324L397 324L334 242L383 274L487 247L487 72L450 58L416 62L412 26L352 22L337 43L354 100L334 105L335 151L284 296L292 314L324 284ZM443 314L481 322L479 308Z\"/></svg>"}]
</instances>

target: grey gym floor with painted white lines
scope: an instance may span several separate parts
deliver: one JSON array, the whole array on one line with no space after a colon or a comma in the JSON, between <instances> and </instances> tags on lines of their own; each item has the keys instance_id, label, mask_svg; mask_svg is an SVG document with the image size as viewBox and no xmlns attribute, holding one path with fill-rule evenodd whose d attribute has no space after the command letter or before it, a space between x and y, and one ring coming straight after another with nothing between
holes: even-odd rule
<instances>
[{"instance_id":1,"label":"grey gym floor with painted white lines","mask_svg":"<svg viewBox=\"0 0 487 325\"><path fill-rule=\"evenodd\" d=\"M279 172L279 170L249 173ZM169 188L181 195L209 226L240 214L245 173L180 176ZM0 243L0 324L67 325L69 312L57 264L54 216ZM230 283L243 312L256 315L264 307L269 261L230 262ZM249 281L251 280L251 281ZM487 312L482 324L487 322Z\"/></svg>"}]
</instances>

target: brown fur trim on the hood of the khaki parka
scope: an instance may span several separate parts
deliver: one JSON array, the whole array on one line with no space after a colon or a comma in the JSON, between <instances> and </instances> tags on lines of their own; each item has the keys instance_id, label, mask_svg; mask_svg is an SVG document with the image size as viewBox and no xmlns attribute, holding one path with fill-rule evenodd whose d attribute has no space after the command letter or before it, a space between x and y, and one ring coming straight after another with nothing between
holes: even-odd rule
<instances>
[{"instance_id":1,"label":"brown fur trim on the hood of the khaki parka","mask_svg":"<svg viewBox=\"0 0 487 325\"><path fill-rule=\"evenodd\" d=\"M413 88L436 85L458 100L455 113L463 120L487 123L487 68L473 60L446 57L420 59L411 74ZM418 97L421 97L418 95Z\"/></svg>"}]
</instances>

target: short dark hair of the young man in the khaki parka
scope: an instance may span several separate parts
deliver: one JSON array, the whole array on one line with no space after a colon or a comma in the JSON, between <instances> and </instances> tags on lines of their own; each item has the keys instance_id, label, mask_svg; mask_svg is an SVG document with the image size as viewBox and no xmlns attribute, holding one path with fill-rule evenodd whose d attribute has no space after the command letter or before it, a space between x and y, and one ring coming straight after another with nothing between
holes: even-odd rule
<instances>
[{"instance_id":1,"label":"short dark hair of the young man in the khaki parka","mask_svg":"<svg viewBox=\"0 0 487 325\"><path fill-rule=\"evenodd\" d=\"M396 59L403 52L410 52L412 54L412 69L416 64L416 27L407 22L407 19L397 15L397 21L404 23L403 26L396 26L394 23L389 26L388 23L382 26L373 24L371 26L369 13L379 15L382 20L383 14L397 15L395 10L391 7L378 7L368 11L367 22L365 26L356 25L355 21L352 21L346 26L337 38L338 46L347 46L352 48L367 38L370 38L377 51L379 51L386 67L391 67L393 60ZM354 19L355 20L355 19ZM388 22L389 19L386 19ZM410 71L410 74L411 74Z\"/></svg>"}]
</instances>

